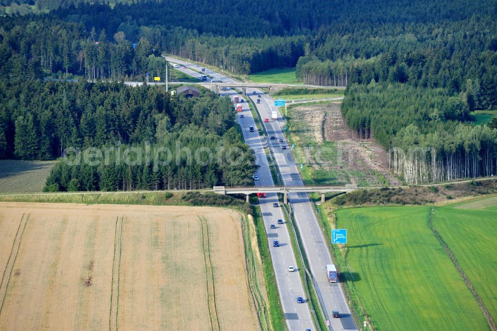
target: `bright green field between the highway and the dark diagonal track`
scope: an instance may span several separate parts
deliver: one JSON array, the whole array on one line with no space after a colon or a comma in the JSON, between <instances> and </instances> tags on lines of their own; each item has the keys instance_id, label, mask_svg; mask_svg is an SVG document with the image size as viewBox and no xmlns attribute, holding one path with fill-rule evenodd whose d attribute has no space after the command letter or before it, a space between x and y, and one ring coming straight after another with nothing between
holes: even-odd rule
<instances>
[{"instance_id":1,"label":"bright green field between the highway and the dark diagonal track","mask_svg":"<svg viewBox=\"0 0 497 331\"><path fill-rule=\"evenodd\" d=\"M348 230L351 286L376 330L490 330L427 226L429 212L429 207L338 210L336 226Z\"/></svg>"}]
</instances>

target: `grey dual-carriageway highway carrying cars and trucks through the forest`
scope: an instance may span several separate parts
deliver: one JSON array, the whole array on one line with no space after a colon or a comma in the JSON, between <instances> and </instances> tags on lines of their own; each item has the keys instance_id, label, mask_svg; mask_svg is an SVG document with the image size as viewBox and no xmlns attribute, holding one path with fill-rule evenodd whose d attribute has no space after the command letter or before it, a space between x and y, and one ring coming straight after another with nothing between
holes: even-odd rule
<instances>
[{"instance_id":1,"label":"grey dual-carriageway highway carrying cars and trucks through the forest","mask_svg":"<svg viewBox=\"0 0 497 331\"><path fill-rule=\"evenodd\" d=\"M190 70L190 68L195 67L192 64L176 60L173 58L166 57L166 60L172 63L183 65L187 68L187 69L178 68L181 70ZM214 73L213 71L207 69L206 69L206 74L215 77L216 79L222 80L223 83L225 82L228 83L232 81L228 77L225 77L219 73ZM252 95L252 90L256 92L255 95ZM233 92L227 91L227 93L233 95ZM257 104L257 110L259 111L260 116L262 118L271 118L271 110L277 110L277 108L274 107L273 100L270 98L270 96L263 94L261 91L256 89L248 89L247 94L254 102L257 99L257 95L259 94L261 95L260 98L261 101L260 104ZM247 97L243 98L247 99ZM247 103L244 104L244 107L245 107L244 109L247 109ZM250 112L246 110L244 110L243 112L244 115L247 115L247 117L244 116L245 118L239 118L239 120L240 120L240 125L242 126L244 139L246 143L252 149L254 149L257 155L257 164L261 166L257 172L259 176L259 181L256 181L255 185L256 186L274 185L271 178L270 169L267 165L267 159L262 148L263 144L266 144L267 146L269 146L269 148L272 149L273 155L276 158L276 163L278 164L279 171L281 173L285 186L303 186L304 184L300 178L297 166L291 155L290 148L287 148L285 150L281 148L281 145L286 145L287 147L289 146L282 132L284 121L279 111L278 111L278 120L270 120L267 123L262 123L262 125L265 125L266 131L268 132L269 136L274 135L276 137L276 139L274 140L269 139L269 137L267 136L262 136L261 139L258 133L248 132L248 126L253 125L255 127L255 125L253 122L253 118L250 115ZM279 143L278 139L283 139L283 143ZM292 209L295 213L295 220L298 229L300 231L300 235L302 237L304 250L306 252L309 266L311 269L310 271L313 274L316 283L318 285L319 295L324 304L325 314L328 320L331 322L332 330L333 331L357 330L355 323L352 319L352 316L350 315L350 311L346 304L346 300L340 285L336 283L334 284L329 283L326 277L326 265L332 263L331 256L326 246L325 238L323 237L319 223L316 219L313 206L311 205L307 194L290 193L288 195L288 198L289 202L291 203ZM288 319L288 317L292 317L288 316L288 313L293 312L294 309L297 310L299 309L298 308L299 305L297 305L297 307L295 307L294 309L292 309L293 307L290 308L291 307L290 305L295 302L295 298L297 296L304 296L303 295L304 292L302 291L302 284L300 278L298 280L298 283L300 285L299 291L301 291L300 294L295 294L296 293L295 287L290 289L285 288L286 286L292 286L292 285L287 285L287 283L289 283L289 279L287 279L287 282L284 282L283 278L285 276L281 273L281 270L279 270L280 268L287 267L286 264L288 264L289 261L291 261L291 263L295 265L294 264L295 258L291 250L291 247L289 249L289 252L285 254L281 253L282 251L281 248L285 248L287 246L272 247L272 240L274 240L273 238L275 234L278 235L278 240L280 240L282 243L289 244L289 241L286 241L289 240L289 234L288 231L286 231L286 228L285 231L283 231L282 228L277 229L279 230L278 233L271 232L271 230L269 229L270 223L275 222L275 220L278 218L283 219L282 217L280 217L282 216L280 208L272 207L272 203L276 202L277 201L276 199L277 199L276 195L274 194L268 194L267 198L260 199L261 209L264 217L264 223L266 225L268 233L268 241L272 249L271 256L275 268L278 288L280 289L280 296L282 298L283 310L287 318L287 324L291 330L298 330L298 329L293 329L295 323L293 323L294 320ZM279 249L282 256L278 256L276 249ZM295 306L295 304L293 306ZM300 305L300 306L307 307L307 305ZM331 318L331 312L333 310L338 310L340 312L341 317L339 319ZM298 318L301 322L303 321L303 316L301 315L301 313L298 313ZM309 314L309 319L310 319L310 314ZM305 330L305 328L303 328L303 330Z\"/></svg>"}]
</instances>

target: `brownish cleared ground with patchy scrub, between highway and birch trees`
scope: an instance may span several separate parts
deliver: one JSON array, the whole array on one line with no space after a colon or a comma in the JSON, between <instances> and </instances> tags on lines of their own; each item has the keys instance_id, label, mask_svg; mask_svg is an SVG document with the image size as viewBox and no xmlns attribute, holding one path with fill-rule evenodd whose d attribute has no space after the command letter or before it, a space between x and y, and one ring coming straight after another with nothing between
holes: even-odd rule
<instances>
[{"instance_id":1,"label":"brownish cleared ground with patchy scrub, between highway and birch trees","mask_svg":"<svg viewBox=\"0 0 497 331\"><path fill-rule=\"evenodd\" d=\"M383 186L401 183L375 161L372 141L351 137L342 120L340 104L291 106L289 114L289 132L296 153L301 155L301 161L306 165L304 172L308 174L304 177L311 180L309 184Z\"/></svg>"}]
</instances>

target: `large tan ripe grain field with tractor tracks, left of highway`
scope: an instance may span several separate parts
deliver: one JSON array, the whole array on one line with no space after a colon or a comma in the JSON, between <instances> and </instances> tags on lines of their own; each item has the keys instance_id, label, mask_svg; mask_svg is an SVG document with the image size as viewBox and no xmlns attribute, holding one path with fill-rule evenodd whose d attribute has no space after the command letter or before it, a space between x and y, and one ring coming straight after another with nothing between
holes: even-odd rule
<instances>
[{"instance_id":1,"label":"large tan ripe grain field with tractor tracks, left of highway","mask_svg":"<svg viewBox=\"0 0 497 331\"><path fill-rule=\"evenodd\" d=\"M0 330L258 330L240 215L0 203Z\"/></svg>"}]
</instances>

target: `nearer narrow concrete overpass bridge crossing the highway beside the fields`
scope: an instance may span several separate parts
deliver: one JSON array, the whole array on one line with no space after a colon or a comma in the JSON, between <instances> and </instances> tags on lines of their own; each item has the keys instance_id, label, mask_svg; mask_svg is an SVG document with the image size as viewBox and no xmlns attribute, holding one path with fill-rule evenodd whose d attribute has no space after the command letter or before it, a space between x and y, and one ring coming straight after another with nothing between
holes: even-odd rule
<instances>
[{"instance_id":1,"label":"nearer narrow concrete overpass bridge crossing the highway beside the fields","mask_svg":"<svg viewBox=\"0 0 497 331\"><path fill-rule=\"evenodd\" d=\"M283 203L288 202L288 193L321 193L321 202L325 202L325 193L337 192L348 193L357 190L357 185L347 184L344 186L239 186L239 187L226 187L214 186L212 191L214 193L226 194L245 194L247 197L254 193L281 193L283 194Z\"/></svg>"}]
</instances>

